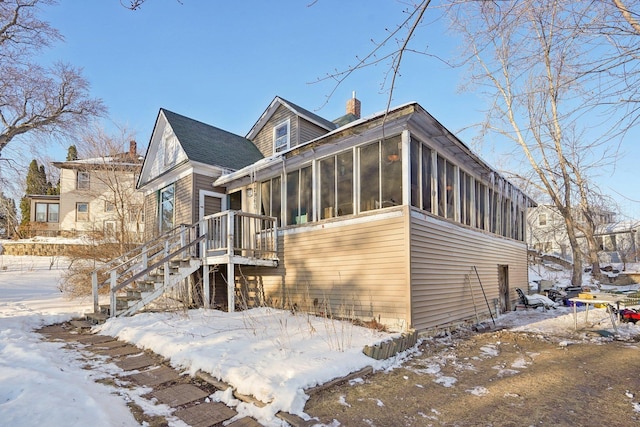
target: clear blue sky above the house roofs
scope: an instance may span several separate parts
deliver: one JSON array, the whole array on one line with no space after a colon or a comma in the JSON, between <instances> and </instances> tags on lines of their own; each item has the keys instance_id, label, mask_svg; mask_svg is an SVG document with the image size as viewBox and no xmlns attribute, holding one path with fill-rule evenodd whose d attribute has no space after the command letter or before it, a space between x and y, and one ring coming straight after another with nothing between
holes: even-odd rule
<instances>
[{"instance_id":1,"label":"clear blue sky above the house roofs","mask_svg":"<svg viewBox=\"0 0 640 427\"><path fill-rule=\"evenodd\" d=\"M44 19L65 37L43 60L83 67L92 94L109 108L105 127L126 125L142 145L160 108L244 136L276 95L330 120L344 114L352 91L363 115L384 110L388 92L381 83L388 62L354 73L326 105L333 82L313 82L368 53L372 39L382 40L386 28L405 19L405 8L394 0L147 0L130 11L119 0L65 0L43 9ZM453 57L460 41L435 20L435 12L414 47ZM411 55L401 74L392 105L419 102L489 164L504 164L499 144L474 142L484 102L459 93L461 70ZM625 158L600 186L640 200L640 148L634 142L633 136L623 142ZM70 144L51 147L49 157L63 159ZM626 213L640 219L640 203L620 200Z\"/></svg>"}]
</instances>

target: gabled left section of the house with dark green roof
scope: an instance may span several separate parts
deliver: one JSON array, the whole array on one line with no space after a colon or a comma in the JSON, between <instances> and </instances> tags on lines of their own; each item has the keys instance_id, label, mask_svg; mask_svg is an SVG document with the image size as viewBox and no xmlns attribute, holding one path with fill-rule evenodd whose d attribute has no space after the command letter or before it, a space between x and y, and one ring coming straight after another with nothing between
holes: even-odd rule
<instances>
[{"instance_id":1,"label":"gabled left section of the house with dark green roof","mask_svg":"<svg viewBox=\"0 0 640 427\"><path fill-rule=\"evenodd\" d=\"M241 136L160 109L138 180L147 237L239 208L239 201L229 200L225 188L213 181L262 157Z\"/></svg>"}]
</instances>

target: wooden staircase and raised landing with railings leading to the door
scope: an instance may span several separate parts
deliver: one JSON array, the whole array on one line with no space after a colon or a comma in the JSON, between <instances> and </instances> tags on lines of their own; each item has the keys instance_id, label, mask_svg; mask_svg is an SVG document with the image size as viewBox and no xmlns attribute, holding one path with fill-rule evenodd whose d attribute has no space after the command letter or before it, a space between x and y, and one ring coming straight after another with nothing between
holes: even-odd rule
<instances>
[{"instance_id":1,"label":"wooden staircase and raised landing with railings leading to the door","mask_svg":"<svg viewBox=\"0 0 640 427\"><path fill-rule=\"evenodd\" d=\"M228 210L180 225L93 271L94 313L89 317L101 321L132 315L167 295L188 305L200 299L211 308L214 272L224 266L226 306L234 311L236 266L278 266L276 224L274 217ZM107 287L109 303L101 305L99 296Z\"/></svg>"}]
</instances>

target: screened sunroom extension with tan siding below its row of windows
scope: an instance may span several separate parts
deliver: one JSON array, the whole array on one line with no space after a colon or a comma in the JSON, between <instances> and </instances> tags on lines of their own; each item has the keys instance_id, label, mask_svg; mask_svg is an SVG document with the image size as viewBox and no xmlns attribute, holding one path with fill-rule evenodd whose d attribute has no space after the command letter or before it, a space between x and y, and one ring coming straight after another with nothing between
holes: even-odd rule
<instances>
[{"instance_id":1,"label":"screened sunroom extension with tan siding below its row of windows","mask_svg":"<svg viewBox=\"0 0 640 427\"><path fill-rule=\"evenodd\" d=\"M234 273L256 303L423 329L508 310L527 281L531 200L416 103L214 185L277 218L278 267Z\"/></svg>"}]
</instances>

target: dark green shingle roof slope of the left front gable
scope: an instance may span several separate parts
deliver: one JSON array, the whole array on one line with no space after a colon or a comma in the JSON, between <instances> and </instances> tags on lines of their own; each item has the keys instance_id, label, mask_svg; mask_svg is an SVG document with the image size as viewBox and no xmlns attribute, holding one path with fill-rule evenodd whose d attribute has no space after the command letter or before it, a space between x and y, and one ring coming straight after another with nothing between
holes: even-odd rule
<instances>
[{"instance_id":1,"label":"dark green shingle roof slope of the left front gable","mask_svg":"<svg viewBox=\"0 0 640 427\"><path fill-rule=\"evenodd\" d=\"M161 111L191 161L240 169L263 158L248 139L164 108Z\"/></svg>"}]
</instances>

